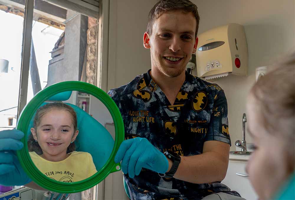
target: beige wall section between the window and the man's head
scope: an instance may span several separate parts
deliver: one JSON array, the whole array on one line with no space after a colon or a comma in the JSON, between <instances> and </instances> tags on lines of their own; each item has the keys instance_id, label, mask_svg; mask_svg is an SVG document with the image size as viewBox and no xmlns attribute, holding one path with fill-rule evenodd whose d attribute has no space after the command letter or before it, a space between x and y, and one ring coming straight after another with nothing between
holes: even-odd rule
<instances>
[{"instance_id":1,"label":"beige wall section between the window and the man's head","mask_svg":"<svg viewBox=\"0 0 295 200\"><path fill-rule=\"evenodd\" d=\"M157 0L110 0L108 90L127 84L151 68L143 47L148 13Z\"/></svg>"}]
</instances>

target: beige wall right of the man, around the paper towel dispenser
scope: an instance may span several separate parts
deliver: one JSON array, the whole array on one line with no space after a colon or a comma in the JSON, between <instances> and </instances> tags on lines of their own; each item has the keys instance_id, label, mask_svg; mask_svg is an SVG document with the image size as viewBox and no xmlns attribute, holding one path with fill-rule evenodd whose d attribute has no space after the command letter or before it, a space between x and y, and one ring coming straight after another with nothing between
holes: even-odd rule
<instances>
[{"instance_id":1,"label":"beige wall right of the man, around the paper towel dispenser","mask_svg":"<svg viewBox=\"0 0 295 200\"><path fill-rule=\"evenodd\" d=\"M249 53L248 77L228 76L214 81L225 92L228 103L232 147L242 139L242 114L246 97L255 83L255 68L271 64L295 44L294 0L192 0L200 15L198 33L227 23L244 26ZM193 71L196 73L196 70ZM247 123L246 123L247 126ZM252 139L246 131L247 143Z\"/></svg>"}]
</instances>

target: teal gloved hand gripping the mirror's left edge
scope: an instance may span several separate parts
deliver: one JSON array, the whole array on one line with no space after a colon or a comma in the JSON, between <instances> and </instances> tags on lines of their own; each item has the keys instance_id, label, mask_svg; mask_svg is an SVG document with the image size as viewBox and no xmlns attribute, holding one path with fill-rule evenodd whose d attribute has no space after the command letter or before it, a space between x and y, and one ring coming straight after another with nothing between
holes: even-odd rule
<instances>
[{"instance_id":1,"label":"teal gloved hand gripping the mirror's left edge","mask_svg":"<svg viewBox=\"0 0 295 200\"><path fill-rule=\"evenodd\" d=\"M16 150L24 147L19 141L23 136L18 130L0 131L0 185L22 186L32 181L16 156Z\"/></svg>"}]
</instances>

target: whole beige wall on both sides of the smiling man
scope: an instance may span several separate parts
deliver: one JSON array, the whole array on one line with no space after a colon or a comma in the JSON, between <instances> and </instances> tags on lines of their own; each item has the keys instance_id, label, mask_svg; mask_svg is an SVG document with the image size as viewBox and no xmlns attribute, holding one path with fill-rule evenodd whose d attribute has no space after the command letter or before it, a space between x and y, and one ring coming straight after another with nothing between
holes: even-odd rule
<instances>
[{"instance_id":1,"label":"whole beige wall on both sides of the smiling man","mask_svg":"<svg viewBox=\"0 0 295 200\"><path fill-rule=\"evenodd\" d=\"M242 114L247 93L255 82L255 68L271 64L281 54L294 49L294 0L192 1L198 6L201 18L199 33L227 23L238 23L245 28L249 76L214 81L227 96L231 150L235 150L235 141L242 138ZM108 89L127 84L150 69L150 51L143 47L142 37L148 12L156 2L110 0ZM247 132L246 139L252 142Z\"/></svg>"}]
</instances>

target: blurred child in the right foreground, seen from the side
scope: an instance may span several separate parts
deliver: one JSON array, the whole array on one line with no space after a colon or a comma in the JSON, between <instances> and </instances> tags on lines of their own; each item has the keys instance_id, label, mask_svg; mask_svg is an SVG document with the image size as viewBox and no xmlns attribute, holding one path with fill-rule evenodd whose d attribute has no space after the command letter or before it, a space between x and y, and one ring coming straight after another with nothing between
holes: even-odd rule
<instances>
[{"instance_id":1,"label":"blurred child in the right foreground, seen from the side","mask_svg":"<svg viewBox=\"0 0 295 200\"><path fill-rule=\"evenodd\" d=\"M247 165L259 199L295 199L295 53L262 77L248 101L249 133L256 146Z\"/></svg>"}]
</instances>

